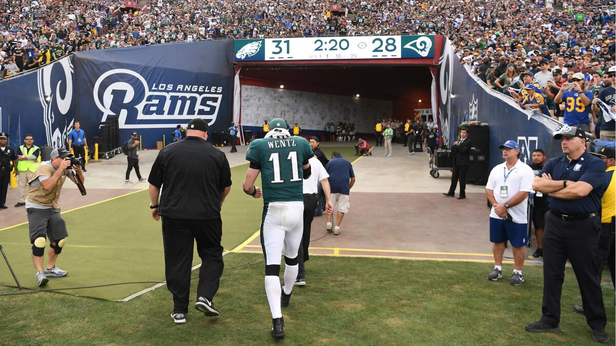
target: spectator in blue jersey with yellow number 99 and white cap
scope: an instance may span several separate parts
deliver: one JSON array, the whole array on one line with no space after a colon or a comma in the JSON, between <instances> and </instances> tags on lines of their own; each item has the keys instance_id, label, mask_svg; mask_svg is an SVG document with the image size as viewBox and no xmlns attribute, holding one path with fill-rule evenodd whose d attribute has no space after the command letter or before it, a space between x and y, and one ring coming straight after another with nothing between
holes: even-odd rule
<instances>
[{"instance_id":1,"label":"spectator in blue jersey with yellow number 99 and white cap","mask_svg":"<svg viewBox=\"0 0 616 346\"><path fill-rule=\"evenodd\" d=\"M585 89L586 79L584 74L576 72L573 74L572 86L564 84L561 91L554 97L554 102L565 104L565 119L564 123L569 126L575 126L590 132L590 118L588 111L590 103L593 99L593 93L583 91Z\"/></svg>"}]
</instances>

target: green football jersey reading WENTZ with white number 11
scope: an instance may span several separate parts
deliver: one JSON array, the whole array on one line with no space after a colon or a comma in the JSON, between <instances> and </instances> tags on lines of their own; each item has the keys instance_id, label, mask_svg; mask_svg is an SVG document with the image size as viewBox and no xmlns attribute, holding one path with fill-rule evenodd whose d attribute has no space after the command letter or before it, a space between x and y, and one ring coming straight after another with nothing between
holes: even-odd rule
<instances>
[{"instance_id":1,"label":"green football jersey reading WENTZ with white number 11","mask_svg":"<svg viewBox=\"0 0 616 346\"><path fill-rule=\"evenodd\" d=\"M298 136L250 142L246 159L261 166L264 203L303 201L302 163L314 155L310 143Z\"/></svg>"}]
</instances>

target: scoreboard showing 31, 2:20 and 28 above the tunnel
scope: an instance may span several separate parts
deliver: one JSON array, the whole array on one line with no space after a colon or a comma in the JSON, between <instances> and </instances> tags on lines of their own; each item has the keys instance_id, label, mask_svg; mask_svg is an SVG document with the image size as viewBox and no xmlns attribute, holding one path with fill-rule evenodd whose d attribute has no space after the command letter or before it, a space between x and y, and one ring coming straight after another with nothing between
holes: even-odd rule
<instances>
[{"instance_id":1,"label":"scoreboard showing 31, 2:20 and 28 above the tunnel","mask_svg":"<svg viewBox=\"0 0 616 346\"><path fill-rule=\"evenodd\" d=\"M434 36L337 36L236 39L241 61L432 58Z\"/></svg>"}]
</instances>

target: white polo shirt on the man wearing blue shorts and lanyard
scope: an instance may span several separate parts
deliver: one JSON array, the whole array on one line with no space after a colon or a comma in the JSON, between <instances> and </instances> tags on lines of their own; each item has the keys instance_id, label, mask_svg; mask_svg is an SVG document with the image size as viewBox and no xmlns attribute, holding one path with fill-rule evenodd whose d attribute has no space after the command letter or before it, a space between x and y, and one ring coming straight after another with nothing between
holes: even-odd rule
<instances>
[{"instance_id":1,"label":"white polo shirt on the man wearing blue shorts and lanyard","mask_svg":"<svg viewBox=\"0 0 616 346\"><path fill-rule=\"evenodd\" d=\"M532 168L522 161L517 160L517 163L509 170L507 169L506 163L501 163L496 165L496 167L492 169L492 172L490 172L490 177L488 177L488 183L485 185L485 188L492 190L496 203L501 204L509 201L509 199L513 198L519 191L532 192L533 179L535 179L535 174ZM501 197L501 187L504 186L507 187L507 196ZM524 198L524 201L507 209L513 222L527 223L527 204L528 198ZM502 219L496 215L494 207L492 207L490 211L490 217Z\"/></svg>"}]
</instances>

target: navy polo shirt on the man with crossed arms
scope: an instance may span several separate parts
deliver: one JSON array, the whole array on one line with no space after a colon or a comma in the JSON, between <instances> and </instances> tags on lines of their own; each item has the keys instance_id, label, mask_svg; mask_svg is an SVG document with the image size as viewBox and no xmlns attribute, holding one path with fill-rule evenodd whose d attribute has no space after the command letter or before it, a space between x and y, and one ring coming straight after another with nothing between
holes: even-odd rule
<instances>
[{"instance_id":1,"label":"navy polo shirt on the man with crossed arms","mask_svg":"<svg viewBox=\"0 0 616 346\"><path fill-rule=\"evenodd\" d=\"M606 191L606 164L587 151L576 160L562 155L559 158L549 159L539 173L551 174L553 180L569 180L570 182L589 183L593 190L579 199L548 198L548 207L561 214L582 214L601 211L601 196Z\"/></svg>"}]
</instances>

